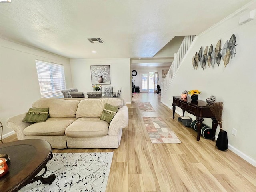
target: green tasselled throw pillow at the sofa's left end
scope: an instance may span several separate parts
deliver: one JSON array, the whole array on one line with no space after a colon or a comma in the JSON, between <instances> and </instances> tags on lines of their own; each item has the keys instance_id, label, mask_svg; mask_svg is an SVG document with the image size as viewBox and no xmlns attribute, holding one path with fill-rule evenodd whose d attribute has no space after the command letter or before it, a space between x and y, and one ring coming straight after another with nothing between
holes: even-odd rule
<instances>
[{"instance_id":1,"label":"green tasselled throw pillow at the sofa's left end","mask_svg":"<svg viewBox=\"0 0 256 192\"><path fill-rule=\"evenodd\" d=\"M37 123L45 122L49 115L49 108L35 109L30 108L26 117L22 120L24 122Z\"/></svg>"}]
</instances>

